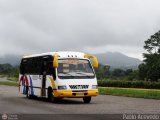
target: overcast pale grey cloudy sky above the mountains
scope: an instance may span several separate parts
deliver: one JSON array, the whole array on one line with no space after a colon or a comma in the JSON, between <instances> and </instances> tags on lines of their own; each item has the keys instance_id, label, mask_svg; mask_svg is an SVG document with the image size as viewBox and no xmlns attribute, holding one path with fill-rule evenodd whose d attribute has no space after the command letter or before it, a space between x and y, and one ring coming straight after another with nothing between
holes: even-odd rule
<instances>
[{"instance_id":1,"label":"overcast pale grey cloudy sky above the mountains","mask_svg":"<svg viewBox=\"0 0 160 120\"><path fill-rule=\"evenodd\" d=\"M159 0L0 0L0 55L72 50L142 59Z\"/></svg>"}]
</instances>

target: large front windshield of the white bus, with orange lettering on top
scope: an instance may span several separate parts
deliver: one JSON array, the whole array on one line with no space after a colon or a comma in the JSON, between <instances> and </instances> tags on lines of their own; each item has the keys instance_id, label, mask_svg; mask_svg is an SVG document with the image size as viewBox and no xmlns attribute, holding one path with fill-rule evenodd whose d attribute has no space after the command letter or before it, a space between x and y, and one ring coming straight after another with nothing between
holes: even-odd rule
<instances>
[{"instance_id":1,"label":"large front windshield of the white bus, with orange lettering on top","mask_svg":"<svg viewBox=\"0 0 160 120\"><path fill-rule=\"evenodd\" d=\"M59 61L58 77L68 78L94 78L95 74L88 60L85 59L61 59Z\"/></svg>"}]
</instances>

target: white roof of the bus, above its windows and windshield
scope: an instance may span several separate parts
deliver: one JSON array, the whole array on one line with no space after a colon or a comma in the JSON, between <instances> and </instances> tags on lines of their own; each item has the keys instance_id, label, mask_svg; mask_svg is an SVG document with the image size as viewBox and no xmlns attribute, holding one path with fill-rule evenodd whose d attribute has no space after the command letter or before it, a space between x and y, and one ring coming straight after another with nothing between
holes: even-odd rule
<instances>
[{"instance_id":1,"label":"white roof of the bus, above its windows and windshield","mask_svg":"<svg viewBox=\"0 0 160 120\"><path fill-rule=\"evenodd\" d=\"M84 58L85 55L82 52L58 51L58 52L47 52L41 54L26 55L23 56L23 58L32 58L32 57L47 56L47 55L54 56L55 53L58 54L58 58Z\"/></svg>"}]
</instances>

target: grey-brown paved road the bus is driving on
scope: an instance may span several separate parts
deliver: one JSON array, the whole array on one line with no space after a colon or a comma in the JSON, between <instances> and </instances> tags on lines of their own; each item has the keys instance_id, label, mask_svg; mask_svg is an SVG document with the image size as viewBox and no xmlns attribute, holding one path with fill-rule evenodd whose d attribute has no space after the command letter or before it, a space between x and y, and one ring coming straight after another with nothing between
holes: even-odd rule
<instances>
[{"instance_id":1,"label":"grey-brown paved road the bus is driving on","mask_svg":"<svg viewBox=\"0 0 160 120\"><path fill-rule=\"evenodd\" d=\"M160 113L160 100L100 95L90 104L82 99L63 99L49 103L46 99L27 99L17 87L0 86L0 113L9 114L122 114Z\"/></svg>"}]
</instances>

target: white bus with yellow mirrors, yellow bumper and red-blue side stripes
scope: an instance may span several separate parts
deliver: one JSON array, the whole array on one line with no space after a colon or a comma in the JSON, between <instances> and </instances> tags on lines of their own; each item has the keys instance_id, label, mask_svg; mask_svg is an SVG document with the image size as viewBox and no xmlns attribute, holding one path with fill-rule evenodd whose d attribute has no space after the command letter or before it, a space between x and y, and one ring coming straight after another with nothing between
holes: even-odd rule
<instances>
[{"instance_id":1,"label":"white bus with yellow mirrors, yellow bumper and red-blue side stripes","mask_svg":"<svg viewBox=\"0 0 160 120\"><path fill-rule=\"evenodd\" d=\"M52 102L68 97L83 98L84 103L90 103L91 97L98 95L93 69L97 67L95 56L81 52L24 56L20 63L19 91L29 98L46 97Z\"/></svg>"}]
</instances>

